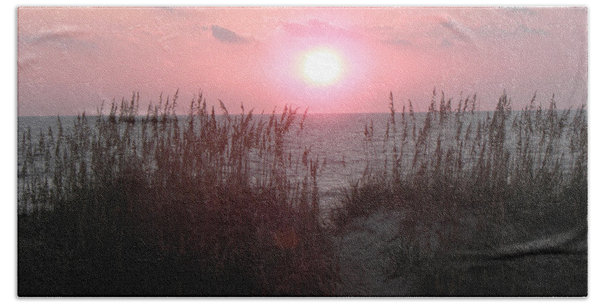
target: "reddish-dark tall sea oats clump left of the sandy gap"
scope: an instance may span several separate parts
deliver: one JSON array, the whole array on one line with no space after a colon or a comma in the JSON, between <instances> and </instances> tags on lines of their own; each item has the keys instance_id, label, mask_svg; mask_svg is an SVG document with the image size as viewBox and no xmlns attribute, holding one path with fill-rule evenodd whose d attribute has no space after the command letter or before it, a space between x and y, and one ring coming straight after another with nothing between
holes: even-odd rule
<instances>
[{"instance_id":1,"label":"reddish-dark tall sea oats clump left of the sandy gap","mask_svg":"<svg viewBox=\"0 0 602 305\"><path fill-rule=\"evenodd\" d=\"M20 141L19 295L332 293L319 162L285 147L295 109L138 101Z\"/></svg>"}]
</instances>

